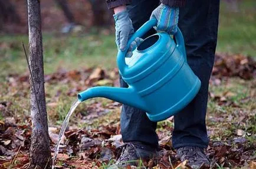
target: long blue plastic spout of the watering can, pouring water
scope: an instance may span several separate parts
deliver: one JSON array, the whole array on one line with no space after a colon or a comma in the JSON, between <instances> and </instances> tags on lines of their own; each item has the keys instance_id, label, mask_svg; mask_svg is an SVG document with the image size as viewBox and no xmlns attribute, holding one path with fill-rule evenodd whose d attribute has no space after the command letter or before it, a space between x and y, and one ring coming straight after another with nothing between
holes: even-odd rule
<instances>
[{"instance_id":1,"label":"long blue plastic spout of the watering can, pouring water","mask_svg":"<svg viewBox=\"0 0 256 169\"><path fill-rule=\"evenodd\" d=\"M77 97L81 102L93 97L104 97L146 111L145 103L132 87L92 87L79 93Z\"/></svg>"}]
</instances>

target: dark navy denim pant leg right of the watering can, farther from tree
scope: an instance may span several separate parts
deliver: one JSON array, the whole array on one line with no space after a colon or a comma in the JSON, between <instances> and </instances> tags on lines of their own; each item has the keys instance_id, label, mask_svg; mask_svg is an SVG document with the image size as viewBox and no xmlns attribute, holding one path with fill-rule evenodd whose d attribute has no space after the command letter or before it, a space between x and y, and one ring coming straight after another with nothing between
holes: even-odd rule
<instances>
[{"instance_id":1,"label":"dark navy denim pant leg right of the watering can, farther from tree","mask_svg":"<svg viewBox=\"0 0 256 169\"><path fill-rule=\"evenodd\" d=\"M173 147L206 148L205 116L208 86L214 65L218 32L219 0L189 0L180 8L179 28L185 38L188 64L202 82L193 101L175 116Z\"/></svg>"}]
</instances>

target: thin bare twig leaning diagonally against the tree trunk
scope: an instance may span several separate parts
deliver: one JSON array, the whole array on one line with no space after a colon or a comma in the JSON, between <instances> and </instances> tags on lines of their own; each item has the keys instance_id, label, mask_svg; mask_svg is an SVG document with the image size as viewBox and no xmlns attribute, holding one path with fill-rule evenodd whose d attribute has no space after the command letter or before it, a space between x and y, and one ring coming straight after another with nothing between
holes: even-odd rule
<instances>
[{"instance_id":1,"label":"thin bare twig leaning diagonally against the tree trunk","mask_svg":"<svg viewBox=\"0 0 256 169\"><path fill-rule=\"evenodd\" d=\"M39 107L39 102L38 102L38 98L37 98L37 92L35 92L35 83L34 83L34 78L32 76L32 71L31 71L31 67L29 65L29 61L28 61L28 55L27 55L27 52L26 52L26 49L25 49L25 45L24 43L22 42L22 46L23 46L23 49L24 49L24 52L25 52L25 56L26 56L26 60L27 60L27 63L28 63L28 69L29 69L29 73L30 73L30 76L31 76L31 81L32 81L32 89L34 90L34 94L35 94L35 100L37 101L37 108L38 108L38 112L40 114L40 124L42 126L42 133L44 134L44 138L45 138L45 141L48 141L48 137L47 137L47 134L45 133L45 126L42 124L42 113L40 111L40 107Z\"/></svg>"}]
</instances>

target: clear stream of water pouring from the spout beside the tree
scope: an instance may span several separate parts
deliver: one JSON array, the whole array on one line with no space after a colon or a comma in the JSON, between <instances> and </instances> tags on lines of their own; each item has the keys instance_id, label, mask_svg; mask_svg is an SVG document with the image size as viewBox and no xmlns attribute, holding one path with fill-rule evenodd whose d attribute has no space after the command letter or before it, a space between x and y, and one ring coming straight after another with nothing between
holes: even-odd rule
<instances>
[{"instance_id":1,"label":"clear stream of water pouring from the spout beside the tree","mask_svg":"<svg viewBox=\"0 0 256 169\"><path fill-rule=\"evenodd\" d=\"M58 134L58 141L57 144L55 146L55 152L54 152L54 156L52 158L52 169L54 169L54 164L55 164L55 160L57 158L58 155L58 150L60 148L60 142L61 142L61 138L63 137L65 130L67 129L68 126L68 121L70 121L70 117L73 114L74 110L77 108L78 104L80 104L80 100L76 100L76 102L74 102L70 108L70 111L68 111L67 116L65 117L65 120L63 121L63 124L61 126L60 129L60 133Z\"/></svg>"}]
</instances>

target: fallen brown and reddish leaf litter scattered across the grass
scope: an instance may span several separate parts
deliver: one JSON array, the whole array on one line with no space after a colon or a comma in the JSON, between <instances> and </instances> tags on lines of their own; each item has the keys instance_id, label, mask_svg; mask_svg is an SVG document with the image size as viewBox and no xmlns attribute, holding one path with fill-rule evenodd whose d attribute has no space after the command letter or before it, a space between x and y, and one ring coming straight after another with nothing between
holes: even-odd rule
<instances>
[{"instance_id":1,"label":"fallen brown and reddish leaf litter scattered across the grass","mask_svg":"<svg viewBox=\"0 0 256 169\"><path fill-rule=\"evenodd\" d=\"M220 86L225 78L239 77L244 80L256 78L256 63L250 57L243 55L229 56L217 54L215 66L210 80L211 85ZM6 77L8 90L11 96L28 97L29 83L27 75L12 75ZM58 90L55 93L53 102L48 102L47 106L55 109L58 107L58 99L62 94L67 96L76 96L81 90L86 90L91 86L119 86L119 74L117 69L104 70L100 67L95 69L71 70L58 69L57 72L45 75L45 83L48 85L68 85L70 88L65 92ZM250 81L251 82L251 81ZM255 91L256 85L252 82L251 90ZM64 92L64 93L63 93ZM254 167L256 161L256 138L255 125L245 129L241 126L248 126L248 123L256 123L256 107L252 106L251 110L244 110L238 103L235 103L230 97L236 93L228 91L222 94L210 92L209 99L218 104L218 106L232 107L232 113L225 111L221 115L214 114L208 116L208 120L213 125L209 125L209 136L212 138L206 149L207 156L212 161L212 168L222 167ZM254 99L255 93L239 102L247 102L247 99ZM84 123L95 123L104 114L110 111L120 111L120 103L102 100L91 100L86 105L86 113L81 110L77 117ZM21 124L21 119L12 116L14 114L11 107L13 101L0 100L0 111L4 120L0 120L0 168L27 168L28 151L31 137L31 120L29 116L25 118L25 124ZM123 145L122 136L120 135L119 113L116 117L109 119L104 123L99 123L94 127L68 127L65 131L65 137L61 142L60 153L57 157L56 168L100 168L102 166L114 163L114 159L119 154L118 148ZM14 118L15 117L15 118ZM103 118L104 119L104 118ZM234 122L234 119L237 120ZM104 119L106 120L106 118ZM173 118L168 119L170 124ZM219 126L215 124L221 123ZM212 137L218 135L219 128L222 126L237 126L232 129L231 134L223 138ZM159 135L160 157L149 161L143 161L147 168L189 168L187 161L179 161L176 151L172 147L173 127L167 123L161 124L161 129L157 129ZM51 139L51 151L54 152L54 146L57 141L57 134L60 126L49 128ZM250 137L249 137L250 136ZM250 140L252 139L252 141ZM14 163L18 161L18 163ZM155 163L157 161L158 163ZM103 167L104 168L104 167ZM131 167L130 167L131 168Z\"/></svg>"}]
</instances>

